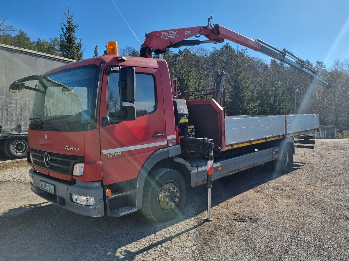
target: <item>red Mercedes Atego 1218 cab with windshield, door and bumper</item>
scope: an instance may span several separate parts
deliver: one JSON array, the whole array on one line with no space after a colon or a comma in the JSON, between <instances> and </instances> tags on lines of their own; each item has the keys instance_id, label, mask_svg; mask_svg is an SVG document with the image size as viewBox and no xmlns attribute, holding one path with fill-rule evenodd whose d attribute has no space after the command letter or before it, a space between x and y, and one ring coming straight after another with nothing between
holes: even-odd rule
<instances>
[{"instance_id":1,"label":"red Mercedes Atego 1218 cab with windshield, door and bumper","mask_svg":"<svg viewBox=\"0 0 349 261\"><path fill-rule=\"evenodd\" d=\"M83 215L104 215L105 191L110 203L116 201L113 194L120 194L115 191L127 194L127 205L108 206L109 215L123 214L113 213L116 207L136 210L139 175L147 160L155 151L167 157L180 154L166 61L118 57L60 66L43 74L36 87L29 127L31 189ZM118 116L120 73L110 70L118 65L135 70L134 103L122 104L134 105L134 120ZM79 204L83 200L87 203Z\"/></svg>"}]
</instances>

